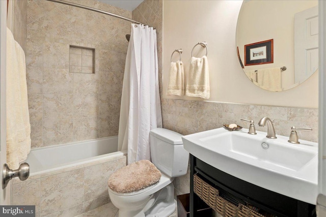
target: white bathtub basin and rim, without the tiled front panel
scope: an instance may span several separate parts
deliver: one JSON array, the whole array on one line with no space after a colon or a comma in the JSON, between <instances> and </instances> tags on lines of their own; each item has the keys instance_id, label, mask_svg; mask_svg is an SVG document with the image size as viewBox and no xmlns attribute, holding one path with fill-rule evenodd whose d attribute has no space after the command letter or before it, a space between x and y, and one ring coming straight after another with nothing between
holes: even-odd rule
<instances>
[{"instance_id":1,"label":"white bathtub basin and rim, without the tiled front panel","mask_svg":"<svg viewBox=\"0 0 326 217\"><path fill-rule=\"evenodd\" d=\"M34 148L24 161L30 165L30 175L87 165L96 161L123 156L126 151L117 151L118 136L73 142L62 145Z\"/></svg>"}]
</instances>

